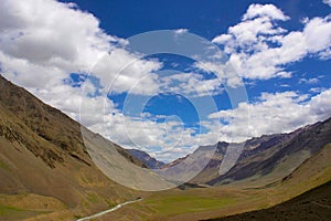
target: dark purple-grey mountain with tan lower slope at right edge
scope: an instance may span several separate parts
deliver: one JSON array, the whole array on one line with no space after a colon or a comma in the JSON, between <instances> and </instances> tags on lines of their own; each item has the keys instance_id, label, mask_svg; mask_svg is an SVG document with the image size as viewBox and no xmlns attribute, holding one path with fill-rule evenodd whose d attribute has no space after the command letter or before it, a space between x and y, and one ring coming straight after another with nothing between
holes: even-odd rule
<instances>
[{"instance_id":1,"label":"dark purple-grey mountain with tan lower slope at right edge","mask_svg":"<svg viewBox=\"0 0 331 221\"><path fill-rule=\"evenodd\" d=\"M299 128L292 133L269 137L254 149L245 148L236 165L225 175L207 183L249 181L273 183L291 173L305 160L331 143L331 118ZM252 144L250 140L247 143ZM246 147L247 147L246 144Z\"/></svg>"}]
</instances>

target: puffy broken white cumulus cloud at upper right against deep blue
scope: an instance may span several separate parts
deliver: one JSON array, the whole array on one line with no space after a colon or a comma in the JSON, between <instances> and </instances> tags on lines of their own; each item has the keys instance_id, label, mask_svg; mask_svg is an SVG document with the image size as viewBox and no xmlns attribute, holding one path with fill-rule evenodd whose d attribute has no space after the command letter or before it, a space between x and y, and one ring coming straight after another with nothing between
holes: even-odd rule
<instances>
[{"instance_id":1,"label":"puffy broken white cumulus cloud at upper right against deep blue","mask_svg":"<svg viewBox=\"0 0 331 221\"><path fill-rule=\"evenodd\" d=\"M287 64L308 55L330 57L330 15L306 19L302 31L291 32L279 25L288 19L273 4L252 4L242 22L213 42L224 46L241 76L253 80L290 77L291 73L285 69Z\"/></svg>"}]
</instances>

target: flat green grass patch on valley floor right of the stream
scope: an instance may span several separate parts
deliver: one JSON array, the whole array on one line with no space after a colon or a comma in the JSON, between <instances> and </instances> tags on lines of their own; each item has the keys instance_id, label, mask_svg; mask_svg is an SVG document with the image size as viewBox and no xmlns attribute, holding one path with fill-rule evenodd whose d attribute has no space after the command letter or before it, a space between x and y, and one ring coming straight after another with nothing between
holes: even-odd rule
<instances>
[{"instance_id":1,"label":"flat green grass patch on valley floor right of the stream","mask_svg":"<svg viewBox=\"0 0 331 221\"><path fill-rule=\"evenodd\" d=\"M218 209L233 204L232 198L204 198L195 196L169 196L163 198L147 199L145 204L150 206L158 214L180 214L204 210Z\"/></svg>"}]
</instances>

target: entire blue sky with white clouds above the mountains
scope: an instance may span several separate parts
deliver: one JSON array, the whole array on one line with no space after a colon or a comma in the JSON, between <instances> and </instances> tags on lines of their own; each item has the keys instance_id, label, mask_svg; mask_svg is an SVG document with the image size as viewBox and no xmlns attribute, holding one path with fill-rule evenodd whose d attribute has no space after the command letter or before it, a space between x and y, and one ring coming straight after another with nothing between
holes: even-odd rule
<instances>
[{"instance_id":1,"label":"entire blue sky with white clouds above the mountains","mask_svg":"<svg viewBox=\"0 0 331 221\"><path fill-rule=\"evenodd\" d=\"M2 76L160 160L331 116L330 0L0 3Z\"/></svg>"}]
</instances>

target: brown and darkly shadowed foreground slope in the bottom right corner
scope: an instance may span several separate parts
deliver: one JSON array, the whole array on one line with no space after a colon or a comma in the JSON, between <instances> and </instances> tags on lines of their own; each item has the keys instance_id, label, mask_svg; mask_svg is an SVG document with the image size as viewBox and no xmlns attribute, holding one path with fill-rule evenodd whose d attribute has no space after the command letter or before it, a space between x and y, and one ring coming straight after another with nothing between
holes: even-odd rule
<instances>
[{"instance_id":1,"label":"brown and darkly shadowed foreground slope in the bottom right corner","mask_svg":"<svg viewBox=\"0 0 331 221\"><path fill-rule=\"evenodd\" d=\"M281 192L292 188L291 192L303 191L303 193L270 208L210 219L210 221L329 220L331 215L330 157L331 145L327 145L275 186Z\"/></svg>"}]
</instances>

